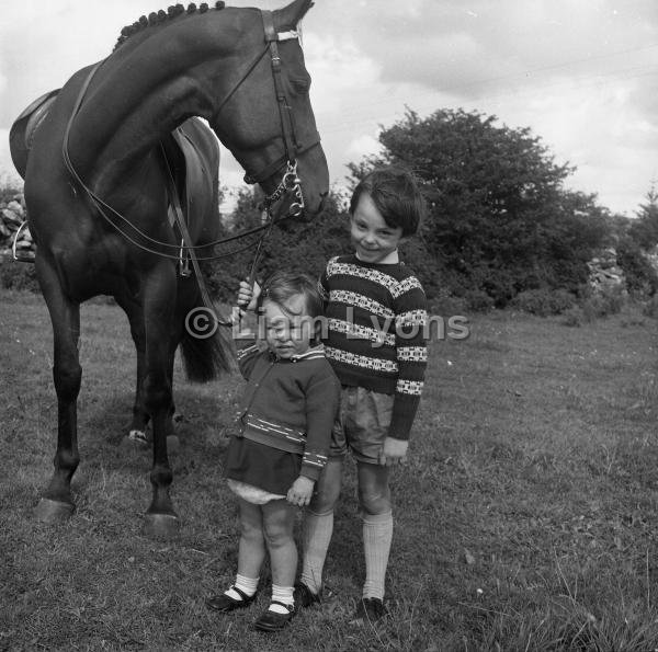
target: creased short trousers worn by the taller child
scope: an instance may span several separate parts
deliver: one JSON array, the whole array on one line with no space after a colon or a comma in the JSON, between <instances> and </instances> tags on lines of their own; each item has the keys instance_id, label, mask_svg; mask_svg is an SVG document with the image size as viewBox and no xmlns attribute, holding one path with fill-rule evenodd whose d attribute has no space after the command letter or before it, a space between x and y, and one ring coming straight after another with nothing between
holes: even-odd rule
<instances>
[{"instance_id":1,"label":"creased short trousers worn by the taller child","mask_svg":"<svg viewBox=\"0 0 658 652\"><path fill-rule=\"evenodd\" d=\"M349 448L359 461L379 464L390 426L393 401L393 394L343 386L329 457L342 458Z\"/></svg>"}]
</instances>

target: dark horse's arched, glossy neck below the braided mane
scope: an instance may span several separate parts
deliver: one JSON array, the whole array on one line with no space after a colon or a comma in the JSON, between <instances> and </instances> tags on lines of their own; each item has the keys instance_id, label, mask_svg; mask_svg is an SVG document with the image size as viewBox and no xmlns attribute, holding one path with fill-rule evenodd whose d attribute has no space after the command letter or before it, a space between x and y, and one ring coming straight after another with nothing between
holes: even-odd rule
<instances>
[{"instance_id":1,"label":"dark horse's arched, glossy neck below the braided mane","mask_svg":"<svg viewBox=\"0 0 658 652\"><path fill-rule=\"evenodd\" d=\"M101 65L69 140L72 159L99 190L138 172L144 157L186 117L212 116L228 50L218 43L196 45L191 50L189 41L167 38L162 30Z\"/></svg>"}]
</instances>

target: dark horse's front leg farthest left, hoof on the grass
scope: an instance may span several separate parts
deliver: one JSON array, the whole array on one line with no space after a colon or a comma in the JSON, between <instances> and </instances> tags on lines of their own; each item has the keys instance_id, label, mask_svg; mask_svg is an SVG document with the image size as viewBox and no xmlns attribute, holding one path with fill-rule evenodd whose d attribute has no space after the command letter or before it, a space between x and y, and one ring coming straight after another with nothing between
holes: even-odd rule
<instances>
[{"instance_id":1,"label":"dark horse's front leg farthest left, hoof on the grass","mask_svg":"<svg viewBox=\"0 0 658 652\"><path fill-rule=\"evenodd\" d=\"M54 265L43 256L36 259L36 272L53 322L53 380L57 392L58 421L55 472L37 505L36 517L58 522L68 518L75 510L71 478L80 461L77 412L82 378L78 354L80 305L65 296Z\"/></svg>"}]
</instances>

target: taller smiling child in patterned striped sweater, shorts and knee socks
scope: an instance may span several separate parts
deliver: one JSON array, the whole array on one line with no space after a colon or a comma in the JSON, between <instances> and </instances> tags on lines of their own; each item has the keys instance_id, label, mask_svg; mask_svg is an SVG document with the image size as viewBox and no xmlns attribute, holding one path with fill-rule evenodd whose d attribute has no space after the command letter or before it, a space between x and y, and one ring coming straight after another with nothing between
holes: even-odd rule
<instances>
[{"instance_id":1,"label":"taller smiling child in patterned striped sweater, shorts and knee socks","mask_svg":"<svg viewBox=\"0 0 658 652\"><path fill-rule=\"evenodd\" d=\"M413 176L376 169L350 202L354 253L333 258L319 283L327 319L325 355L341 385L340 417L329 460L304 523L304 561L295 604L320 602L322 568L348 449L356 460L365 583L353 622L386 616L384 583L393 539L390 467L407 455L427 366L424 291L398 256L426 210ZM253 294L258 295L258 285ZM252 288L240 284L242 300Z\"/></svg>"}]
</instances>

